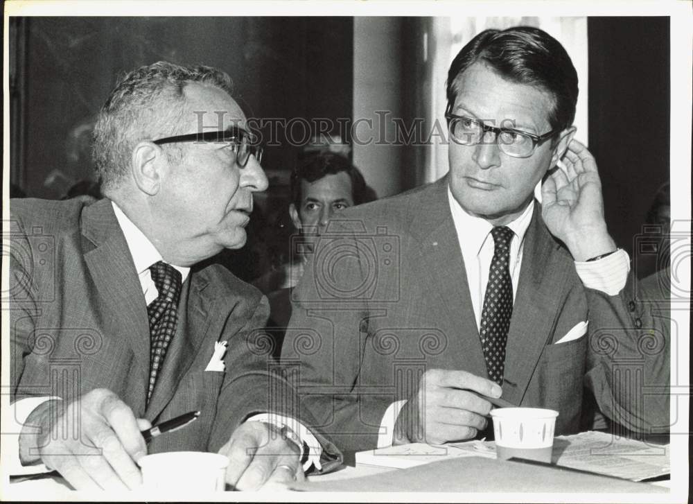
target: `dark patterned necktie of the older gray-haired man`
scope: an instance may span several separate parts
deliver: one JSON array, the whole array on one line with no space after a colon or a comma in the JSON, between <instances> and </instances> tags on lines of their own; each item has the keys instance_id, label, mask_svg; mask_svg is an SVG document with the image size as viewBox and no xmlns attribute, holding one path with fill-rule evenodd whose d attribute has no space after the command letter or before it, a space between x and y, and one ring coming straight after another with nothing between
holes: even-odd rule
<instances>
[{"instance_id":1,"label":"dark patterned necktie of the older gray-haired man","mask_svg":"<svg viewBox=\"0 0 693 504\"><path fill-rule=\"evenodd\" d=\"M178 299L182 284L180 272L163 261L152 264L149 270L159 295L147 306L151 337L147 401L152 397L154 385L157 383L157 374L164 364L168 344L175 336L178 324Z\"/></svg>"}]
</instances>

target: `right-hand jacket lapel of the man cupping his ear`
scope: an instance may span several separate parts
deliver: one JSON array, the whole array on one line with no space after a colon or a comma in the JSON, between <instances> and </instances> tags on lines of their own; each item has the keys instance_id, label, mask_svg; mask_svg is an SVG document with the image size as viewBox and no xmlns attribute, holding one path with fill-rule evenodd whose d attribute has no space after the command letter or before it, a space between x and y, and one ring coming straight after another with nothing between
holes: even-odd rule
<instances>
[{"instance_id":1,"label":"right-hand jacket lapel of the man cupping his ear","mask_svg":"<svg viewBox=\"0 0 693 504\"><path fill-rule=\"evenodd\" d=\"M518 292L508 331L503 397L522 401L560 310L569 270L559 244L549 234L535 205L527 229Z\"/></svg>"}]
</instances>

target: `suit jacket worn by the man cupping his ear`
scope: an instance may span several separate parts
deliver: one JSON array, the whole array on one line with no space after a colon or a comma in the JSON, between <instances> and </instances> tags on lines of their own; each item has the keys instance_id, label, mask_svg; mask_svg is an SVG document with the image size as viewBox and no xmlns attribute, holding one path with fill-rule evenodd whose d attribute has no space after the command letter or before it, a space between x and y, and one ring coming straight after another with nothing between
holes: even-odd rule
<instances>
[{"instance_id":1,"label":"suit jacket worn by the man cupping his ear","mask_svg":"<svg viewBox=\"0 0 693 504\"><path fill-rule=\"evenodd\" d=\"M387 406L410 397L426 370L487 376L447 185L444 177L342 212L292 293L282 362L342 449L374 448ZM638 329L649 320L633 299L625 290L608 296L584 288L570 253L535 210L502 397L558 410L559 434L581 428L584 383L618 423L639 431L660 422L633 391L642 380L668 383L668 361L662 338L642 349ZM588 335L556 345L586 320Z\"/></svg>"}]
</instances>

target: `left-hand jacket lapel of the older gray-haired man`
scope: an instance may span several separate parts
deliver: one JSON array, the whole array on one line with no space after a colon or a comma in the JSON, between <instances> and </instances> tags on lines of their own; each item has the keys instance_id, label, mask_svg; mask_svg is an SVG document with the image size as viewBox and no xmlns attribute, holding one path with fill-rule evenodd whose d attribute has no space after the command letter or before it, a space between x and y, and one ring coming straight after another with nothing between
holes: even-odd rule
<instances>
[{"instance_id":1,"label":"left-hand jacket lapel of the older gray-haired man","mask_svg":"<svg viewBox=\"0 0 693 504\"><path fill-rule=\"evenodd\" d=\"M130 345L137 362L138 379L145 391L150 345L146 302L110 200L100 200L85 208L82 236L94 244L94 249L85 252L84 257L99 295L104 337ZM136 413L143 412L145 396L143 393L139 408L133 408Z\"/></svg>"}]
</instances>

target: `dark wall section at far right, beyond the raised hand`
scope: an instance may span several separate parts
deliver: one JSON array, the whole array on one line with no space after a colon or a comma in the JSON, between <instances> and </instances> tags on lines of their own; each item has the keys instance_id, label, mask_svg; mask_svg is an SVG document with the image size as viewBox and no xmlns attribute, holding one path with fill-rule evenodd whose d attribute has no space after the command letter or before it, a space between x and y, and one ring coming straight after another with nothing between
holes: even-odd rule
<instances>
[{"instance_id":1,"label":"dark wall section at far right, beyond the raised hand","mask_svg":"<svg viewBox=\"0 0 693 504\"><path fill-rule=\"evenodd\" d=\"M669 18L590 17L587 28L590 150L609 231L632 254L658 187L669 181Z\"/></svg>"}]
</instances>

